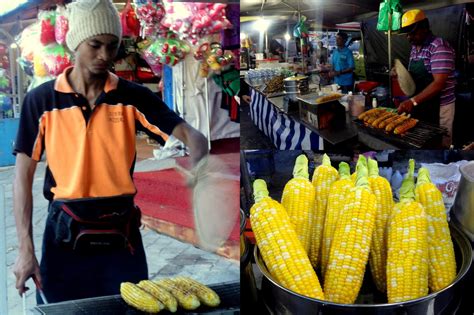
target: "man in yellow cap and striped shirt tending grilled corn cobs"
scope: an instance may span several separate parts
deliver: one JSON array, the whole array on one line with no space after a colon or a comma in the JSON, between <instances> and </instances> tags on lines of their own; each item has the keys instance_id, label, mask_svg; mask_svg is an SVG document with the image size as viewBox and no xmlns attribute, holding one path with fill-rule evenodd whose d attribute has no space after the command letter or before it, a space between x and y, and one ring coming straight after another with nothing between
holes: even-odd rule
<instances>
[{"instance_id":1,"label":"man in yellow cap and striped shirt tending grilled corn cobs","mask_svg":"<svg viewBox=\"0 0 474 315\"><path fill-rule=\"evenodd\" d=\"M402 16L402 29L412 45L408 71L416 83L413 97L402 102L398 112L445 127L449 135L443 146L452 142L455 103L454 49L433 35L423 11L409 10Z\"/></svg>"}]
</instances>

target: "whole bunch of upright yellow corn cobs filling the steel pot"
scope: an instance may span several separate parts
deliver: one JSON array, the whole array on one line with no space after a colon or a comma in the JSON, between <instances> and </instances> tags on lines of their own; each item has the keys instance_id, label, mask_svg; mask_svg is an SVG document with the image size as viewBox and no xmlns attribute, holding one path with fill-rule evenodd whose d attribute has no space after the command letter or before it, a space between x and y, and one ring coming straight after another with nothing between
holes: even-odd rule
<instances>
[{"instance_id":1,"label":"whole bunch of upright yellow corn cobs filling the steel pot","mask_svg":"<svg viewBox=\"0 0 474 315\"><path fill-rule=\"evenodd\" d=\"M395 204L375 160L361 155L351 176L347 163L341 162L337 172L325 154L312 185L307 163L304 155L297 158L281 204L269 197L264 181L254 182L252 228L280 285L311 298L353 304L367 263L389 303L452 283L453 243L441 193L427 169L420 168L415 186L415 162L410 160Z\"/></svg>"}]
</instances>

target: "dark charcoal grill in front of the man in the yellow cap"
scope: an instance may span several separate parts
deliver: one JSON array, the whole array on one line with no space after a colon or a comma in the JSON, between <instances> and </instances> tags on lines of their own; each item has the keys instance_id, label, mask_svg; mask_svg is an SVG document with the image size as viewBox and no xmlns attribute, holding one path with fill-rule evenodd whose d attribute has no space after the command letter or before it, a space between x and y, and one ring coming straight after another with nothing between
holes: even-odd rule
<instances>
[{"instance_id":1,"label":"dark charcoal grill in front of the man in the yellow cap","mask_svg":"<svg viewBox=\"0 0 474 315\"><path fill-rule=\"evenodd\" d=\"M367 126L360 119L354 119L354 123L360 131L406 149L438 148L441 146L442 136L447 135L446 129L421 120L403 135L386 133L383 129Z\"/></svg>"}]
</instances>

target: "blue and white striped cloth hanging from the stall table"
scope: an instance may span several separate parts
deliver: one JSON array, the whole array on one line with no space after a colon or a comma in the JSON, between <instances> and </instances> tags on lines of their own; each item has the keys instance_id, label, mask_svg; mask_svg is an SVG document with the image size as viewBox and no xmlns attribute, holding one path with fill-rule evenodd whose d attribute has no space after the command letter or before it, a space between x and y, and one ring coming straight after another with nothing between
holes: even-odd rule
<instances>
[{"instance_id":1,"label":"blue and white striped cloth hanging from the stall table","mask_svg":"<svg viewBox=\"0 0 474 315\"><path fill-rule=\"evenodd\" d=\"M322 150L323 139L251 89L250 117L279 150Z\"/></svg>"}]
</instances>

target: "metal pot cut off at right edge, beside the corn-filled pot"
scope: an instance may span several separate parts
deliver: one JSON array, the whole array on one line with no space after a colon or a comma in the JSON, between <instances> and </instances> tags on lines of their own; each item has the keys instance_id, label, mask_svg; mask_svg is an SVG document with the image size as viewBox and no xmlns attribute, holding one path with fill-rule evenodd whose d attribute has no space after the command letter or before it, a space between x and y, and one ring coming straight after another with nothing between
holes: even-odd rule
<instances>
[{"instance_id":1,"label":"metal pot cut off at right edge, beside the corn-filled pot","mask_svg":"<svg viewBox=\"0 0 474 315\"><path fill-rule=\"evenodd\" d=\"M452 212L463 231L474 242L474 161L463 165L459 170L461 181Z\"/></svg>"}]
</instances>

